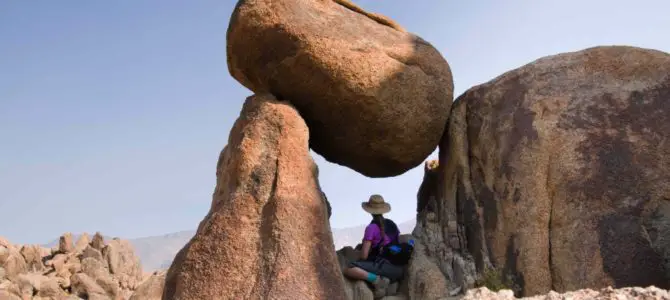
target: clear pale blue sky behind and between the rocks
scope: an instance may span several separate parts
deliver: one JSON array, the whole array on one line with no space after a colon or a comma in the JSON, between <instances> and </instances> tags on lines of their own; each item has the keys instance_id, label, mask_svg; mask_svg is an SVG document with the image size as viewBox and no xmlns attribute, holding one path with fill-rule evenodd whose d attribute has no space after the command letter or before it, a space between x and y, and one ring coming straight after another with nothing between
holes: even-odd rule
<instances>
[{"instance_id":1,"label":"clear pale blue sky behind and between the rocks","mask_svg":"<svg viewBox=\"0 0 670 300\"><path fill-rule=\"evenodd\" d=\"M364 0L431 42L456 94L539 57L596 45L670 52L667 0ZM250 91L228 74L234 1L0 2L0 236L133 238L194 229ZM447 112L445 112L447 113ZM316 157L333 227L381 193L414 217L421 167L370 179Z\"/></svg>"}]
</instances>

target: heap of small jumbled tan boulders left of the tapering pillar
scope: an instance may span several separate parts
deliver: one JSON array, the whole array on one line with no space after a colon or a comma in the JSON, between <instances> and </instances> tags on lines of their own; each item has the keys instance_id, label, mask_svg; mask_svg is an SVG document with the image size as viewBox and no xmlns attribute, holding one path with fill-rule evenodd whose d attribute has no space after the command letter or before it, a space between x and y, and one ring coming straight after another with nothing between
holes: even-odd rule
<instances>
[{"instance_id":1,"label":"heap of small jumbled tan boulders left of the tapering pillar","mask_svg":"<svg viewBox=\"0 0 670 300\"><path fill-rule=\"evenodd\" d=\"M0 299L128 299L144 279L132 247L97 239L101 252L87 242L74 247L69 233L53 249L0 240Z\"/></svg>"}]
</instances>

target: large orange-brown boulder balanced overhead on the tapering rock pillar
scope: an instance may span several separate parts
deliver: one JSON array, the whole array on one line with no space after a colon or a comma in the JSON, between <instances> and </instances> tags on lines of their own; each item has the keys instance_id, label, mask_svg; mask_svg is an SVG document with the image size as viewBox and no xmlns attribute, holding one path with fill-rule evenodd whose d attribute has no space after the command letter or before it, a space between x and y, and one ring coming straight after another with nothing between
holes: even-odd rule
<instances>
[{"instance_id":1,"label":"large orange-brown boulder balanced overhead on the tapering rock pillar","mask_svg":"<svg viewBox=\"0 0 670 300\"><path fill-rule=\"evenodd\" d=\"M227 34L232 76L290 101L310 146L369 177L404 173L438 145L453 99L428 42L350 1L242 0Z\"/></svg>"}]
</instances>

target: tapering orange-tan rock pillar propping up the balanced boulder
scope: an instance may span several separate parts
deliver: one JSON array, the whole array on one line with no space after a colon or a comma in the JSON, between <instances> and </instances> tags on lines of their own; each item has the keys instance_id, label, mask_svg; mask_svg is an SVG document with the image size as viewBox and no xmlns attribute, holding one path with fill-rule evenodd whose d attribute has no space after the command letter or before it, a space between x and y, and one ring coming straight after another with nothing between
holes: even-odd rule
<instances>
[{"instance_id":1,"label":"tapering orange-tan rock pillar propping up the balanced boulder","mask_svg":"<svg viewBox=\"0 0 670 300\"><path fill-rule=\"evenodd\" d=\"M298 112L247 98L217 164L212 206L176 255L163 299L345 299Z\"/></svg>"}]
</instances>

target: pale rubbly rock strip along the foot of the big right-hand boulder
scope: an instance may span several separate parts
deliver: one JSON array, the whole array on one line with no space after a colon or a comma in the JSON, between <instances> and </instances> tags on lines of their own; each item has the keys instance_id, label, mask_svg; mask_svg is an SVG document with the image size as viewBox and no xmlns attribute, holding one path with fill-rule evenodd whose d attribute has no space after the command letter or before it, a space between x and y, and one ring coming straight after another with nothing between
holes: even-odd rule
<instances>
[{"instance_id":1,"label":"pale rubbly rock strip along the foot of the big right-hand boulder","mask_svg":"<svg viewBox=\"0 0 670 300\"><path fill-rule=\"evenodd\" d=\"M559 294L551 291L546 295L539 295L533 297L516 298L512 290L501 290L492 292L487 288L478 288L469 290L462 300L661 300L670 299L670 293L667 290L662 290L651 286L648 288L628 287L621 289L613 289L607 287L601 290L583 289L564 294Z\"/></svg>"}]
</instances>

